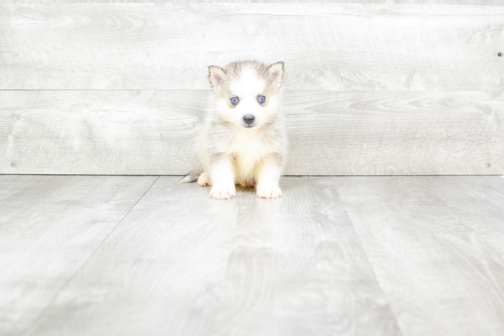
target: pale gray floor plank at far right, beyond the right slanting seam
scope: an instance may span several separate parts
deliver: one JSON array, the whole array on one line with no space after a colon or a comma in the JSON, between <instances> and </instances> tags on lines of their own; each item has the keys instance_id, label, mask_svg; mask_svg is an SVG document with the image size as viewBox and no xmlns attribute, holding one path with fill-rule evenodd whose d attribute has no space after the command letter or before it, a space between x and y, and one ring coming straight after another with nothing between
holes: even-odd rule
<instances>
[{"instance_id":1,"label":"pale gray floor plank at far right, beyond the right slanting seam","mask_svg":"<svg viewBox=\"0 0 504 336\"><path fill-rule=\"evenodd\" d=\"M356 229L404 335L502 335L504 260L484 236L495 223L470 223L437 197L442 188L471 193L471 178L429 176L329 178ZM483 180L483 178L479 178ZM502 185L498 176L487 181ZM480 190L483 188L479 188ZM504 190L496 191L502 199ZM455 191L455 190L454 190ZM489 199L489 198L484 198ZM483 202L483 196L478 202ZM458 202L455 200L455 202ZM480 215L484 208L463 201ZM504 214L504 204L494 206ZM487 207L488 208L488 207ZM495 214L496 212L494 212ZM501 235L499 228L497 235Z\"/></svg>"}]
</instances>

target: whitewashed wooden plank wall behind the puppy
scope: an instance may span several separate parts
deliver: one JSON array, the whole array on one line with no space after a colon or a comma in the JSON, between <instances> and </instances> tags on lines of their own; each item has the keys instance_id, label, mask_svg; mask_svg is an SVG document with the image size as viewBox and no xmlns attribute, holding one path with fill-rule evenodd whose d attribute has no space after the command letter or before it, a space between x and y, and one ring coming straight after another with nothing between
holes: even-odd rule
<instances>
[{"instance_id":1,"label":"whitewashed wooden plank wall behind the puppy","mask_svg":"<svg viewBox=\"0 0 504 336\"><path fill-rule=\"evenodd\" d=\"M186 173L207 65L254 58L285 174L504 174L499 2L97 2L0 3L0 173Z\"/></svg>"}]
</instances>

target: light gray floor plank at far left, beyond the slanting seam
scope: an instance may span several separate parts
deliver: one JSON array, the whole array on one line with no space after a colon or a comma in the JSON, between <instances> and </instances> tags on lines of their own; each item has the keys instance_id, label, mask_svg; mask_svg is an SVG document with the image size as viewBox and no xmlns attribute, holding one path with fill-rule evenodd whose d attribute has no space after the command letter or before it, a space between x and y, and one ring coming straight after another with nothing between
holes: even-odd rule
<instances>
[{"instance_id":1,"label":"light gray floor plank at far left, beyond the slanting seam","mask_svg":"<svg viewBox=\"0 0 504 336\"><path fill-rule=\"evenodd\" d=\"M155 179L0 175L0 334L31 326Z\"/></svg>"}]
</instances>

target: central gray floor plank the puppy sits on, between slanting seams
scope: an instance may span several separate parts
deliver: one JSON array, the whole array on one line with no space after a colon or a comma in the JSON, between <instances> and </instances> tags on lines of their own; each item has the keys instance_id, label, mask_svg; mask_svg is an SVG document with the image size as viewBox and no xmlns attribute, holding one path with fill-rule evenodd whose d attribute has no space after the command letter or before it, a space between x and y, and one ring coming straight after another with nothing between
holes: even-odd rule
<instances>
[{"instance_id":1,"label":"central gray floor plank the puppy sits on, between slanting seams","mask_svg":"<svg viewBox=\"0 0 504 336\"><path fill-rule=\"evenodd\" d=\"M400 334L333 185L216 201L161 176L29 335Z\"/></svg>"}]
</instances>

